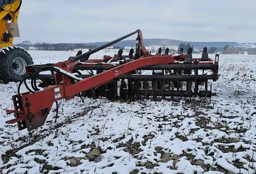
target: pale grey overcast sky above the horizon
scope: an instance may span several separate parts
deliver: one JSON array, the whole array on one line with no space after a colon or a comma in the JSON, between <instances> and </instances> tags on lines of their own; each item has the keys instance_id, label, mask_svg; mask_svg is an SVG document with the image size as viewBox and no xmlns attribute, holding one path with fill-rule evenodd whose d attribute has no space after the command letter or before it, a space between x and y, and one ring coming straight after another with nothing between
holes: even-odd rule
<instances>
[{"instance_id":1,"label":"pale grey overcast sky above the horizon","mask_svg":"<svg viewBox=\"0 0 256 174\"><path fill-rule=\"evenodd\" d=\"M256 0L23 0L14 43L104 42L137 29L143 38L256 43L255 8Z\"/></svg>"}]
</instances>

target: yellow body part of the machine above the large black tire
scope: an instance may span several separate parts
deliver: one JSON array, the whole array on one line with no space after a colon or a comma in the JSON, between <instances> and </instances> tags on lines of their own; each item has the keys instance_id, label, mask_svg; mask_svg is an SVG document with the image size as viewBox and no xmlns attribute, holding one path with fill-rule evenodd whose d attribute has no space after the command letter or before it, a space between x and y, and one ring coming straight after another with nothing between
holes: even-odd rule
<instances>
[{"instance_id":1,"label":"yellow body part of the machine above the large black tire","mask_svg":"<svg viewBox=\"0 0 256 174\"><path fill-rule=\"evenodd\" d=\"M22 0L0 2L0 48L13 45L13 38L20 37L18 16Z\"/></svg>"}]
</instances>

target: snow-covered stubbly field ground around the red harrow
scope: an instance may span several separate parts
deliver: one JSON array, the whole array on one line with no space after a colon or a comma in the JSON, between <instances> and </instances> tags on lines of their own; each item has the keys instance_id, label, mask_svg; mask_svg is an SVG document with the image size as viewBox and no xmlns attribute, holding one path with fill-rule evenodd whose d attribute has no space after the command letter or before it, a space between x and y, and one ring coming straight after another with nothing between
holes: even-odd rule
<instances>
[{"instance_id":1,"label":"snow-covered stubbly field ground around the red harrow","mask_svg":"<svg viewBox=\"0 0 256 174\"><path fill-rule=\"evenodd\" d=\"M92 58L117 51L105 49ZM76 55L29 53L35 64ZM30 133L5 124L14 118L5 110L13 109L17 84L0 84L0 173L254 174L256 57L220 55L219 74L211 103L75 98L59 102L56 123L54 105L46 124Z\"/></svg>"}]
</instances>

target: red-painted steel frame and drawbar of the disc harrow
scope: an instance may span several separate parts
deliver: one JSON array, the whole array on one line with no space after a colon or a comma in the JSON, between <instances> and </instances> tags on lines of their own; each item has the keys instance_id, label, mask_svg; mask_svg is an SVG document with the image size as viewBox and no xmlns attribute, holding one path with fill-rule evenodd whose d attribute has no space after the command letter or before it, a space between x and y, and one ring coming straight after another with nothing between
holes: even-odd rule
<instances>
[{"instance_id":1,"label":"red-painted steel frame and drawbar of the disc harrow","mask_svg":"<svg viewBox=\"0 0 256 174\"><path fill-rule=\"evenodd\" d=\"M143 45L143 39L141 31L138 34L141 38L142 50L144 53L148 53ZM147 65L163 65L163 64L180 64L176 60L184 60L185 55L151 55L150 53L142 55L139 59L130 61L123 65L116 64L116 67L94 75L92 77L78 81L72 84L70 77L55 73L55 81L57 85L45 87L44 91L38 91L36 93L22 93L20 95L14 95L12 97L14 102L14 110L7 110L7 113L14 113L15 119L6 121L8 124L18 124L19 130L27 129L33 130L44 125L52 104L60 99L73 99L77 93L104 85L114 81L114 79L120 75L129 73L134 69L144 67ZM104 56L105 57L105 56ZM176 60L175 60L176 59ZM200 60L200 59L199 59ZM53 64L59 68L72 73L75 65L95 65L99 60L88 60L85 63L79 61L73 62L71 60L59 62ZM102 62L102 60L100 61ZM218 62L212 63L212 59L206 62L200 62L200 64L218 64ZM106 63L106 65L108 65ZM218 73L217 71L214 73ZM63 82L60 84L60 82Z\"/></svg>"}]
</instances>

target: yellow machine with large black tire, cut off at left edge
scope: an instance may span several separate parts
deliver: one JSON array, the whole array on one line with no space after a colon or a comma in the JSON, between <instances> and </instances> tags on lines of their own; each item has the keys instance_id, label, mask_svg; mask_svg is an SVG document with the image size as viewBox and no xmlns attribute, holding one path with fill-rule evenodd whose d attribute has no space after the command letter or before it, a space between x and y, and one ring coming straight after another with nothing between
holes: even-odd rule
<instances>
[{"instance_id":1,"label":"yellow machine with large black tire, cut off at left edge","mask_svg":"<svg viewBox=\"0 0 256 174\"><path fill-rule=\"evenodd\" d=\"M18 16L22 0L0 0L0 80L18 82L32 65L30 54L22 47L13 46L14 37L20 37Z\"/></svg>"}]
</instances>

